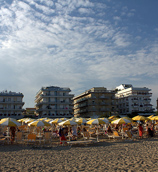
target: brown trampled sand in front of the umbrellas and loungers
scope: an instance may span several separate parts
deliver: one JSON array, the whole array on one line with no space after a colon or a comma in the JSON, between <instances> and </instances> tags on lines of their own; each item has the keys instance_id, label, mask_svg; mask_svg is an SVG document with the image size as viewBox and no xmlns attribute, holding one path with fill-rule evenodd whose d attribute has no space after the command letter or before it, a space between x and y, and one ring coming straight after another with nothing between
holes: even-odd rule
<instances>
[{"instance_id":1,"label":"brown trampled sand in front of the umbrellas and loungers","mask_svg":"<svg viewBox=\"0 0 158 172\"><path fill-rule=\"evenodd\" d=\"M0 171L158 171L158 138L88 146L0 145Z\"/></svg>"}]
</instances>

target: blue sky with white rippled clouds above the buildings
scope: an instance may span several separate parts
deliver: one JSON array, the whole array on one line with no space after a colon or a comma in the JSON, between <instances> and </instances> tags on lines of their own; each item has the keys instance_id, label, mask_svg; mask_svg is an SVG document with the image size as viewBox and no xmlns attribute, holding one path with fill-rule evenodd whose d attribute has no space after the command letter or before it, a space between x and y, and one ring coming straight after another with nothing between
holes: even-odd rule
<instances>
[{"instance_id":1,"label":"blue sky with white rippled clouds above the buildings","mask_svg":"<svg viewBox=\"0 0 158 172\"><path fill-rule=\"evenodd\" d=\"M158 98L157 0L1 0L0 91L24 94L34 107L45 86L121 84Z\"/></svg>"}]
</instances>

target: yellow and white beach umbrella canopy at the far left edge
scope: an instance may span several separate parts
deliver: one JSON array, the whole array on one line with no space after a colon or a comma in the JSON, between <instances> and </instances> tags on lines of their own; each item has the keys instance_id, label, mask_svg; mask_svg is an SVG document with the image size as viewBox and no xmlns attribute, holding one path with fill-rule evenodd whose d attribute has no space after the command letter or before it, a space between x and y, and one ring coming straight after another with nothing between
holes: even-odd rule
<instances>
[{"instance_id":1,"label":"yellow and white beach umbrella canopy at the far left edge","mask_svg":"<svg viewBox=\"0 0 158 172\"><path fill-rule=\"evenodd\" d=\"M21 124L14 118L3 118L0 121L0 125L8 126L8 127L16 127L16 126L20 126Z\"/></svg>"}]
</instances>

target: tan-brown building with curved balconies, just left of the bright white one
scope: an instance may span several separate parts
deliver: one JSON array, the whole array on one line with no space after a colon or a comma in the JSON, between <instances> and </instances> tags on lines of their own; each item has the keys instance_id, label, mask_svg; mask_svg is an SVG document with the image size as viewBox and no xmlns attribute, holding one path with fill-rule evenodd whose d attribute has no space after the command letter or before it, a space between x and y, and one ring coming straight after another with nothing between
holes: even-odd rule
<instances>
[{"instance_id":1,"label":"tan-brown building with curved balconies, just left of the bright white one","mask_svg":"<svg viewBox=\"0 0 158 172\"><path fill-rule=\"evenodd\" d=\"M116 112L115 92L93 87L73 98L75 117L107 117Z\"/></svg>"}]
</instances>

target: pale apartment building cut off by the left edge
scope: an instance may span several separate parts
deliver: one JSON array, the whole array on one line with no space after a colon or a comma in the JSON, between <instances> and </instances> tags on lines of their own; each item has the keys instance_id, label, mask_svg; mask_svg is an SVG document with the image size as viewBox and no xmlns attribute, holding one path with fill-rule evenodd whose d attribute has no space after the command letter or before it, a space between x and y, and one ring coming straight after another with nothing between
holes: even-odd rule
<instances>
[{"instance_id":1,"label":"pale apartment building cut off by the left edge","mask_svg":"<svg viewBox=\"0 0 158 172\"><path fill-rule=\"evenodd\" d=\"M0 119L2 118L15 118L20 119L23 117L23 97L22 93L11 91L0 92Z\"/></svg>"}]
</instances>

